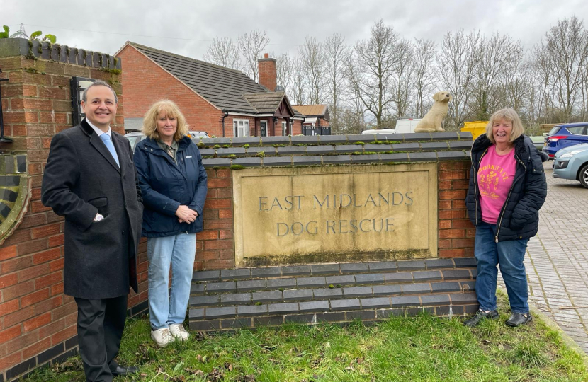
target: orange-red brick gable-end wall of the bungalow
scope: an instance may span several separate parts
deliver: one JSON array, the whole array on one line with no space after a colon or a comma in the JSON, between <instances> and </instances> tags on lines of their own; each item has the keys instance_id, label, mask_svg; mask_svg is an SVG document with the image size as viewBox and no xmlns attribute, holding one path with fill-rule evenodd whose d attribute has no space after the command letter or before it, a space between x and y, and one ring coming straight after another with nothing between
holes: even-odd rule
<instances>
[{"instance_id":1,"label":"orange-red brick gable-end wall of the bungalow","mask_svg":"<svg viewBox=\"0 0 588 382\"><path fill-rule=\"evenodd\" d=\"M149 107L161 99L173 100L193 130L222 137L222 112L191 88L178 81L130 45L117 57L122 59L125 118L143 117ZM132 70L125 71L125 68ZM120 112L119 112L120 114ZM225 137L232 137L232 122L225 120Z\"/></svg>"}]
</instances>

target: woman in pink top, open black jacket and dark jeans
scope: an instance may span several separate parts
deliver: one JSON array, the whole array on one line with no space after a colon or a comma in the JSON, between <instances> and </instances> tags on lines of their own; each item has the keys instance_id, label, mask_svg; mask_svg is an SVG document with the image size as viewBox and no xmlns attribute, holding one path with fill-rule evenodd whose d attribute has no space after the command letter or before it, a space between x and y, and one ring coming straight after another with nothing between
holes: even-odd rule
<instances>
[{"instance_id":1,"label":"woman in pink top, open black jacket and dark jeans","mask_svg":"<svg viewBox=\"0 0 588 382\"><path fill-rule=\"evenodd\" d=\"M486 134L472 146L470 187L465 198L476 227L476 296L480 310L465 321L475 326L497 319L497 265L506 284L511 316L506 324L531 321L524 257L528 239L538 231L539 209L547 196L543 163L525 137L521 119L510 108L490 117Z\"/></svg>"}]
</instances>

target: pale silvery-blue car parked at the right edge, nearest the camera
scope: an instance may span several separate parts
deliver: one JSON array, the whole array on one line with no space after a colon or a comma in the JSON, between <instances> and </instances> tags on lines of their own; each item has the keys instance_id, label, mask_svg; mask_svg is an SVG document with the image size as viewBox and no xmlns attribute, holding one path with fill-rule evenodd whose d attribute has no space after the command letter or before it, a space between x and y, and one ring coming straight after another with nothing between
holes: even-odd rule
<instances>
[{"instance_id":1,"label":"pale silvery-blue car parked at the right edge, nearest the camera","mask_svg":"<svg viewBox=\"0 0 588 382\"><path fill-rule=\"evenodd\" d=\"M579 180L588 188L588 144L568 146L555 154L553 178Z\"/></svg>"}]
</instances>

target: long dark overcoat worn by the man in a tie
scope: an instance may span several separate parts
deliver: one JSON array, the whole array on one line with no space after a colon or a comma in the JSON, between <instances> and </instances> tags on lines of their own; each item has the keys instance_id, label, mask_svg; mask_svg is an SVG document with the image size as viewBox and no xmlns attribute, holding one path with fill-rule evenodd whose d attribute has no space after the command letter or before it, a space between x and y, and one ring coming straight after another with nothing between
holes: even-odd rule
<instances>
[{"instance_id":1,"label":"long dark overcoat worn by the man in a tie","mask_svg":"<svg viewBox=\"0 0 588 382\"><path fill-rule=\"evenodd\" d=\"M112 140L120 169L86 120L51 141L41 199L65 216L63 278L69 296L108 299L125 296L129 286L137 291L141 190L129 141L115 132ZM96 213L104 219L94 221Z\"/></svg>"}]
</instances>

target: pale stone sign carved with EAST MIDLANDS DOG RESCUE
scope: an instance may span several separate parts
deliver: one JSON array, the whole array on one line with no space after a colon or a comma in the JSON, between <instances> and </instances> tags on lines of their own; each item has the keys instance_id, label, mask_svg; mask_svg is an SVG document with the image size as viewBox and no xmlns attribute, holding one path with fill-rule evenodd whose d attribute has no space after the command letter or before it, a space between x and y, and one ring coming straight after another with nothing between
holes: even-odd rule
<instances>
[{"instance_id":1,"label":"pale stone sign carved with EAST MIDLANDS DOG RESCUE","mask_svg":"<svg viewBox=\"0 0 588 382\"><path fill-rule=\"evenodd\" d=\"M437 256L436 163L233 171L235 265Z\"/></svg>"}]
</instances>

